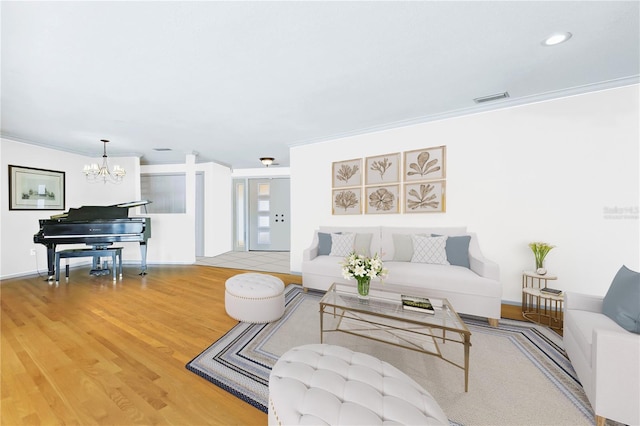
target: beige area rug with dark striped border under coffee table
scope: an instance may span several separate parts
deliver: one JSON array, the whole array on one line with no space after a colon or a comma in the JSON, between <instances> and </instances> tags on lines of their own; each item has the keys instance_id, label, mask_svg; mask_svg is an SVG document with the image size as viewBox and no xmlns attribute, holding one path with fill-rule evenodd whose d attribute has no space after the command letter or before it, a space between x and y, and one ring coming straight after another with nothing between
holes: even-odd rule
<instances>
[{"instance_id":1,"label":"beige area rug with dark striped border under coffee table","mask_svg":"<svg viewBox=\"0 0 640 426\"><path fill-rule=\"evenodd\" d=\"M285 294L285 314L279 321L238 323L186 368L267 412L269 374L280 355L320 342L322 293L288 285ZM524 321L503 319L494 328L486 319L463 319L472 333L469 392L464 392L463 370L437 357L343 333L325 334L325 343L369 353L403 370L434 396L451 424L594 424L560 336ZM461 345L440 347L447 357L462 362Z\"/></svg>"}]
</instances>

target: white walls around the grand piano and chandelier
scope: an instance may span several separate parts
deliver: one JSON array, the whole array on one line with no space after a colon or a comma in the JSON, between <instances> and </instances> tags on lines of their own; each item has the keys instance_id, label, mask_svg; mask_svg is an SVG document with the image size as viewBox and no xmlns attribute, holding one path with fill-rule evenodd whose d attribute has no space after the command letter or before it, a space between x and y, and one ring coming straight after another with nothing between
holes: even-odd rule
<instances>
[{"instance_id":1,"label":"white walls around the grand piano and chandelier","mask_svg":"<svg viewBox=\"0 0 640 426\"><path fill-rule=\"evenodd\" d=\"M195 164L195 157L187 157L185 164L169 166L141 166L137 157L118 157L117 162L127 170L121 184L89 184L81 173L85 163L95 158L52 150L36 145L2 139L0 150L0 278L47 273L46 248L33 242L39 230L38 219L47 219L62 211L9 211L8 165L18 165L66 172L66 206L106 206L140 199L140 173L179 170L187 172L187 213L183 215L145 214L144 208L131 209L129 216L151 217L151 238L148 241L147 262L195 262L195 173L204 172L205 181L205 255L215 256L231 250L231 170L213 163ZM116 161L114 158L110 163ZM122 243L125 263L140 262L138 243ZM81 245L80 245L81 246ZM65 245L63 248L73 246ZM30 250L36 249L36 256ZM70 263L86 263L87 259L71 259Z\"/></svg>"}]
</instances>

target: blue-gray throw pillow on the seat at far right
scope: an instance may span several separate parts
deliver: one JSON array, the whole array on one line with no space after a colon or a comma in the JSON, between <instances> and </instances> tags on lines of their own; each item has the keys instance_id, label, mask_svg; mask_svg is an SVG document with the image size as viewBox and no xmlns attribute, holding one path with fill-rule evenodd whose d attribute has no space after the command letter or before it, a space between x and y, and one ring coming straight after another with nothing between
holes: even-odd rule
<instances>
[{"instance_id":1,"label":"blue-gray throw pillow on the seat at far right","mask_svg":"<svg viewBox=\"0 0 640 426\"><path fill-rule=\"evenodd\" d=\"M640 334L640 273L622 266L602 300L602 313L632 333Z\"/></svg>"}]
</instances>

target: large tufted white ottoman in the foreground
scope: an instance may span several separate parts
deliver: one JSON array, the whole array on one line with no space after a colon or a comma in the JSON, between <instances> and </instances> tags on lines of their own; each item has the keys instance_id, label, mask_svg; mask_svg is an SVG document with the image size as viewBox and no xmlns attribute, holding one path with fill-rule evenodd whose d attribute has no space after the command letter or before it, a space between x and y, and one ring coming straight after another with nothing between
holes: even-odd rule
<instances>
[{"instance_id":1,"label":"large tufted white ottoman in the foreground","mask_svg":"<svg viewBox=\"0 0 640 426\"><path fill-rule=\"evenodd\" d=\"M341 346L286 352L269 376L269 425L448 425L438 403L402 371Z\"/></svg>"}]
</instances>

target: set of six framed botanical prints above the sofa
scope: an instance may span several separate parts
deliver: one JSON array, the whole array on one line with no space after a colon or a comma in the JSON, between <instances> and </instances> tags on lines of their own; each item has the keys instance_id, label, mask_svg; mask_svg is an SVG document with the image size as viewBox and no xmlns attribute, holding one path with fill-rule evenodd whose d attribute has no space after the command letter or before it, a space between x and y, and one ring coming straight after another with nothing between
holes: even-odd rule
<instances>
[{"instance_id":1,"label":"set of six framed botanical prints above the sofa","mask_svg":"<svg viewBox=\"0 0 640 426\"><path fill-rule=\"evenodd\" d=\"M336 161L332 164L332 213L442 213L445 187L444 145Z\"/></svg>"}]
</instances>

